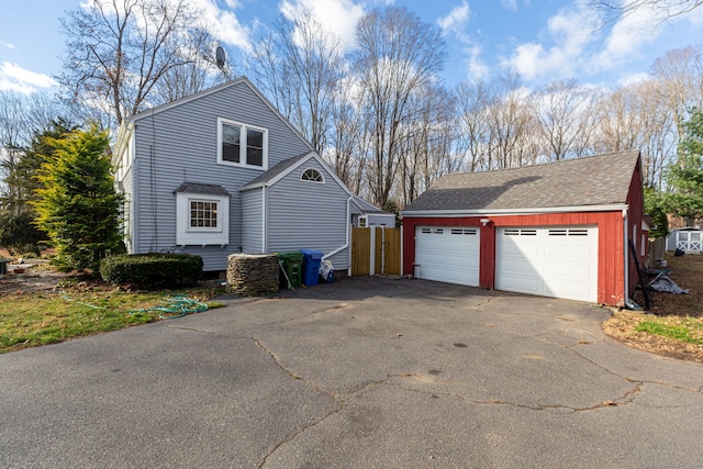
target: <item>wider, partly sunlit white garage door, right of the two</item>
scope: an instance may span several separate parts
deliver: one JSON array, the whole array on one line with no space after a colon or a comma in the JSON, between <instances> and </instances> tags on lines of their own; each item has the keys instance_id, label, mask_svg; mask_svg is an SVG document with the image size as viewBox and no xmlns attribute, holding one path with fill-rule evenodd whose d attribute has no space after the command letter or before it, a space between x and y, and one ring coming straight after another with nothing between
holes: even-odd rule
<instances>
[{"instance_id":1,"label":"wider, partly sunlit white garage door, right of the two","mask_svg":"<svg viewBox=\"0 0 703 469\"><path fill-rule=\"evenodd\" d=\"M598 300L598 227L499 228L495 289Z\"/></svg>"}]
</instances>

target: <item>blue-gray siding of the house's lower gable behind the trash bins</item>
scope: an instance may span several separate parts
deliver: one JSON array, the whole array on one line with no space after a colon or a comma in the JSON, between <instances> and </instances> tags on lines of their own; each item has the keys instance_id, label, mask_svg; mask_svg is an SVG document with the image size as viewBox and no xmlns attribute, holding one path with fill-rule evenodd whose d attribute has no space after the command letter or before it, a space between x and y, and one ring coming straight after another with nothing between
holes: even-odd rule
<instances>
[{"instance_id":1,"label":"blue-gray siding of the house's lower gable behind the trash bins","mask_svg":"<svg viewBox=\"0 0 703 469\"><path fill-rule=\"evenodd\" d=\"M322 172L325 182L301 181L308 168ZM325 255L344 246L348 230L348 193L314 158L267 189L268 250L316 249ZM349 247L330 258L336 270L349 267Z\"/></svg>"}]
</instances>

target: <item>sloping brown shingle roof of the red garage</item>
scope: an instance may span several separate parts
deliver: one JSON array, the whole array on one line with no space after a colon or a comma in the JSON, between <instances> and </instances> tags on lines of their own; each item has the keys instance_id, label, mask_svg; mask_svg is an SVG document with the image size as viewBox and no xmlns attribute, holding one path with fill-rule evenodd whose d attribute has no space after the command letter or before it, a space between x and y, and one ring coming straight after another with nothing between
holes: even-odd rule
<instances>
[{"instance_id":1,"label":"sloping brown shingle roof of the red garage","mask_svg":"<svg viewBox=\"0 0 703 469\"><path fill-rule=\"evenodd\" d=\"M624 205L639 150L446 175L402 211L488 213Z\"/></svg>"}]
</instances>

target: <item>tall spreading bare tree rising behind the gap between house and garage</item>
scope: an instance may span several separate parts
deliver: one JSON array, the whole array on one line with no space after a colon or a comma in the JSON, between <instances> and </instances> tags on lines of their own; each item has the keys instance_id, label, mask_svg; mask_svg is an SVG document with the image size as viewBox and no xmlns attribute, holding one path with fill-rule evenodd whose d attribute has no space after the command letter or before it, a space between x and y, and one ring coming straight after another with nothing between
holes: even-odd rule
<instances>
[{"instance_id":1,"label":"tall spreading bare tree rising behind the gap between house and garage","mask_svg":"<svg viewBox=\"0 0 703 469\"><path fill-rule=\"evenodd\" d=\"M436 26L404 8L367 13L357 24L355 69L364 89L372 143L373 201L383 206L395 183L401 142L408 137L411 97L433 81L446 59Z\"/></svg>"}]
</instances>

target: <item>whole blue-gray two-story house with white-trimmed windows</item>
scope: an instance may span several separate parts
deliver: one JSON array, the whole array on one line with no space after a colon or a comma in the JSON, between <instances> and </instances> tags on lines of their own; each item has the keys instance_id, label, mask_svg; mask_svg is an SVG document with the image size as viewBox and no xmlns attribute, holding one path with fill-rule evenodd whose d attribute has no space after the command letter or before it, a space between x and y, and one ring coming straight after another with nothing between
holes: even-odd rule
<instances>
[{"instance_id":1,"label":"whole blue-gray two-story house with white-trimmed windows","mask_svg":"<svg viewBox=\"0 0 703 469\"><path fill-rule=\"evenodd\" d=\"M354 196L247 78L126 119L113 165L130 253L216 271L233 253L309 248L349 268Z\"/></svg>"}]
</instances>

